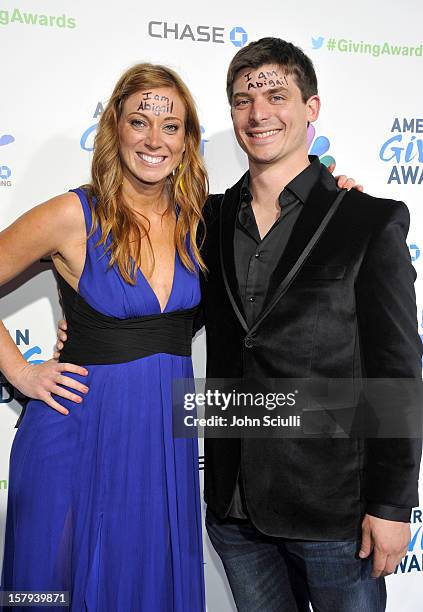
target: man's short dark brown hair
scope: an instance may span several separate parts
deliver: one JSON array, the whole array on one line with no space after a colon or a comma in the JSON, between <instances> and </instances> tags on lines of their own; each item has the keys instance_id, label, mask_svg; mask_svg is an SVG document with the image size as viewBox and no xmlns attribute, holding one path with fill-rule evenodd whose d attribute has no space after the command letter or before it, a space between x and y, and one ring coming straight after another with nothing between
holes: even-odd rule
<instances>
[{"instance_id":1,"label":"man's short dark brown hair","mask_svg":"<svg viewBox=\"0 0 423 612\"><path fill-rule=\"evenodd\" d=\"M269 36L240 49L229 64L226 79L229 104L232 104L234 81L240 70L257 69L263 64L277 64L283 66L287 74L293 74L303 102L317 95L317 77L311 59L292 43Z\"/></svg>"}]
</instances>

